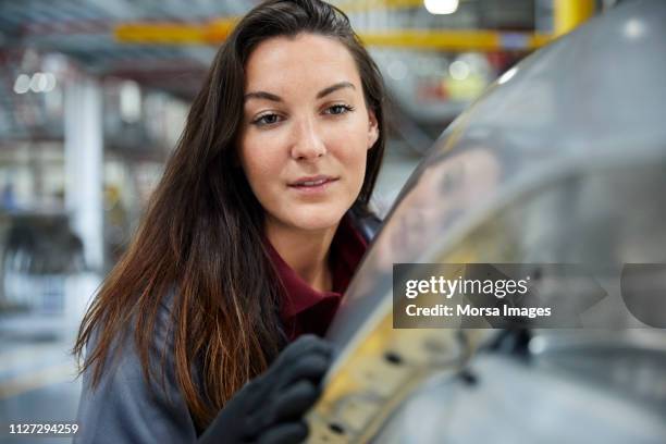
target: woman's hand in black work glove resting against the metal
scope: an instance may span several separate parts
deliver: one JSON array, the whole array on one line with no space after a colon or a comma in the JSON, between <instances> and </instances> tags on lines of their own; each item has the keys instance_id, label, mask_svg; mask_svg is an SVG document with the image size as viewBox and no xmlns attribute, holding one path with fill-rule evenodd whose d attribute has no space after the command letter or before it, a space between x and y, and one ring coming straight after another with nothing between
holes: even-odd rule
<instances>
[{"instance_id":1,"label":"woman's hand in black work glove resting against the metal","mask_svg":"<svg viewBox=\"0 0 666 444\"><path fill-rule=\"evenodd\" d=\"M314 335L300 336L226 403L198 443L303 442L308 435L303 417L321 394L331 359L330 343Z\"/></svg>"}]
</instances>

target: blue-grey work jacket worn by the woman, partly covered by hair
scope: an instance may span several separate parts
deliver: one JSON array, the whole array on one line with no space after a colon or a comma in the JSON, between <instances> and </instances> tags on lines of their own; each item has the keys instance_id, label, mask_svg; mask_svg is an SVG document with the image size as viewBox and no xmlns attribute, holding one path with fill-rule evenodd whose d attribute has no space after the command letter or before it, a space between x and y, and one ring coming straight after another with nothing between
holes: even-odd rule
<instances>
[{"instance_id":1,"label":"blue-grey work jacket worn by the woman, partly covered by hair","mask_svg":"<svg viewBox=\"0 0 666 444\"><path fill-rule=\"evenodd\" d=\"M354 225L370 240L379 230L381 221L374 215L360 218L350 212ZM173 338L168 334L171 317L169 309L173 295L164 298L156 319L155 344L151 358L159 361L161 350L173 349ZM123 344L118 359L107 359L99 385L90 386L92 371L83 374L83 392L76 422L79 431L75 444L122 443L194 443L201 430L197 430L175 379L173 357L168 353L165 384L159 378L151 379L152 390L144 378L139 357L134 345L133 331ZM87 349L96 343L92 336ZM158 373L158 377L160 373ZM195 378L197 377L195 372ZM200 381L200 375L199 375Z\"/></svg>"}]
</instances>

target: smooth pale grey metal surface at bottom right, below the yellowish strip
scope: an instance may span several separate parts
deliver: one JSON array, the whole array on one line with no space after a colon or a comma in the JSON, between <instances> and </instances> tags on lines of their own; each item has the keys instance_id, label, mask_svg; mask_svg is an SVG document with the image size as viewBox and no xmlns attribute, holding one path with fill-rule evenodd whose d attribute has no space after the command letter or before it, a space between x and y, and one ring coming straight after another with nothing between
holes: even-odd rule
<instances>
[{"instance_id":1,"label":"smooth pale grey metal surface at bottom right, below the yellowish strip","mask_svg":"<svg viewBox=\"0 0 666 444\"><path fill-rule=\"evenodd\" d=\"M663 408L540 361L481 355L469 372L423 385L374 442L656 444L666 436Z\"/></svg>"}]
</instances>

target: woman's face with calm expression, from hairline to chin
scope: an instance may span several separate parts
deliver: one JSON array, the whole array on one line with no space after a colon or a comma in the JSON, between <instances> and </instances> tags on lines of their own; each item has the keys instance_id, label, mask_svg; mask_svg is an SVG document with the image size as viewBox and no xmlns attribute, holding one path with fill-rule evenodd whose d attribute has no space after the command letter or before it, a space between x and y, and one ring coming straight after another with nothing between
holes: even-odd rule
<instances>
[{"instance_id":1,"label":"woman's face with calm expression, from hairline to chin","mask_svg":"<svg viewBox=\"0 0 666 444\"><path fill-rule=\"evenodd\" d=\"M239 157L267 224L335 226L361 189L378 136L356 63L337 40L274 37L250 54Z\"/></svg>"}]
</instances>

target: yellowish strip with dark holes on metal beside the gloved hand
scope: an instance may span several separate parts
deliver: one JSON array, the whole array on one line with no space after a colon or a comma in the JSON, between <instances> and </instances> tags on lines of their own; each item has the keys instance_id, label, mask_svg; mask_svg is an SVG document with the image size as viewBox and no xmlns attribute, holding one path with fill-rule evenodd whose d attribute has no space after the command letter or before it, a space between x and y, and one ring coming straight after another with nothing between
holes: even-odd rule
<instances>
[{"instance_id":1,"label":"yellowish strip with dark holes on metal beside the gloved hand","mask_svg":"<svg viewBox=\"0 0 666 444\"><path fill-rule=\"evenodd\" d=\"M354 340L342 365L332 370L325 391L308 415L310 443L366 443L388 416L427 378L457 371L468 359L477 332L460 342L454 329L393 329L392 305L363 337ZM399 362L392 362L392 353ZM335 432L335 429L340 429ZM342 431L342 432L340 432Z\"/></svg>"}]
</instances>

